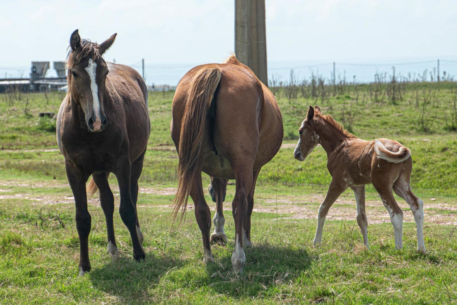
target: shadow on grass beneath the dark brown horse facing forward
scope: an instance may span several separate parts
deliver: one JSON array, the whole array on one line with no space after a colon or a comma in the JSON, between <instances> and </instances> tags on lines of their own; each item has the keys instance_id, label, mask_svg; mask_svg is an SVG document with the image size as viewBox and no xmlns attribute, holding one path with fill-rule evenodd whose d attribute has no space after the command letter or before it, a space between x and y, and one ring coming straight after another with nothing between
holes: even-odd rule
<instances>
[{"instance_id":1,"label":"shadow on grass beneath the dark brown horse facing forward","mask_svg":"<svg viewBox=\"0 0 457 305\"><path fill-rule=\"evenodd\" d=\"M88 273L95 288L121 298L121 302L141 303L148 299L147 290L154 287L170 269L181 268L184 261L146 253L146 259L136 262L131 257L115 257L102 268Z\"/></svg>"}]
</instances>

